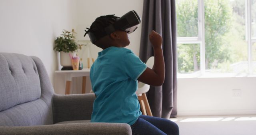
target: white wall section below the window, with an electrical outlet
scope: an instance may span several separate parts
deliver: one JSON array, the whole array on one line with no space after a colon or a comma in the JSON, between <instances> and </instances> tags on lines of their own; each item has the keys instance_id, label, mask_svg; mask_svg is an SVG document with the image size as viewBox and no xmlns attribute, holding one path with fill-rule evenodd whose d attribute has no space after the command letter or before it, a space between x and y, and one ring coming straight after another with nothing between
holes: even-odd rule
<instances>
[{"instance_id":1,"label":"white wall section below the window, with an electrical outlet","mask_svg":"<svg viewBox=\"0 0 256 135\"><path fill-rule=\"evenodd\" d=\"M256 77L180 78L178 115L255 115ZM234 96L240 89L241 96Z\"/></svg>"}]
</instances>

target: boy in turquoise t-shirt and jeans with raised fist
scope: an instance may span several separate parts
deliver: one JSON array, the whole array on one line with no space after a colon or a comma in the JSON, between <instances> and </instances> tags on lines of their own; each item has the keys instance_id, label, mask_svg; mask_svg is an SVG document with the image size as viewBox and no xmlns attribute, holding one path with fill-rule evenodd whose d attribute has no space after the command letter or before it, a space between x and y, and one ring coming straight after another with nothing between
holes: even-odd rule
<instances>
[{"instance_id":1,"label":"boy in turquoise t-shirt and jeans with raised fist","mask_svg":"<svg viewBox=\"0 0 256 135\"><path fill-rule=\"evenodd\" d=\"M96 95L91 122L128 123L135 135L178 135L176 123L142 115L135 93L138 81L154 86L164 82L162 37L155 31L149 35L154 48L154 66L150 69L131 50L124 48L130 44L126 30L115 27L117 30L107 34L106 28L118 19L114 15L100 16L86 31L89 36L91 32L93 44L103 49L90 70Z\"/></svg>"}]
</instances>

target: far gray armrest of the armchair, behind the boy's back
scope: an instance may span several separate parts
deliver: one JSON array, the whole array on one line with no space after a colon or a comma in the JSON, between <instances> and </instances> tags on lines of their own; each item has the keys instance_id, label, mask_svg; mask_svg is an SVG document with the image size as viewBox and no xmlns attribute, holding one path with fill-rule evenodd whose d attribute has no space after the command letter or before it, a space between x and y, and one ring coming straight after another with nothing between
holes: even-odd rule
<instances>
[{"instance_id":1,"label":"far gray armrest of the armchair, behind the boy's back","mask_svg":"<svg viewBox=\"0 0 256 135\"><path fill-rule=\"evenodd\" d=\"M94 93L54 94L52 97L53 123L91 119L94 99Z\"/></svg>"}]
</instances>

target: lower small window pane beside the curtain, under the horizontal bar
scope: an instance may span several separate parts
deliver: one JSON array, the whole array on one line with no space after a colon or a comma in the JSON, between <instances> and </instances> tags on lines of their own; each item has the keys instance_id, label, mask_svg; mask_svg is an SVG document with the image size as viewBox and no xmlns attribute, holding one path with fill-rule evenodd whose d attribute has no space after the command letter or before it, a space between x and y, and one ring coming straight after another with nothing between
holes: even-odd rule
<instances>
[{"instance_id":1,"label":"lower small window pane beside the curtain, under the horizontal bar","mask_svg":"<svg viewBox=\"0 0 256 135\"><path fill-rule=\"evenodd\" d=\"M178 44L178 73L200 70L200 44Z\"/></svg>"}]
</instances>

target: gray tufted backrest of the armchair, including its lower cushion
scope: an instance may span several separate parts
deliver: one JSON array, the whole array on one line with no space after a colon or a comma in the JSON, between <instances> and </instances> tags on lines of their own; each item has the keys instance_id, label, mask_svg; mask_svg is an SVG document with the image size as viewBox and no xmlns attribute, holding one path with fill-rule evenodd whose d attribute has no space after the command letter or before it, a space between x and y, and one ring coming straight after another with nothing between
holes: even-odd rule
<instances>
[{"instance_id":1,"label":"gray tufted backrest of the armchair, including its lower cushion","mask_svg":"<svg viewBox=\"0 0 256 135\"><path fill-rule=\"evenodd\" d=\"M0 126L52 124L53 93L39 58L0 53Z\"/></svg>"}]
</instances>

